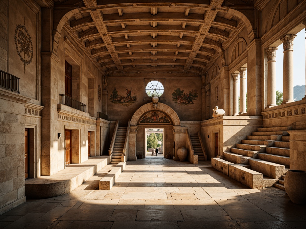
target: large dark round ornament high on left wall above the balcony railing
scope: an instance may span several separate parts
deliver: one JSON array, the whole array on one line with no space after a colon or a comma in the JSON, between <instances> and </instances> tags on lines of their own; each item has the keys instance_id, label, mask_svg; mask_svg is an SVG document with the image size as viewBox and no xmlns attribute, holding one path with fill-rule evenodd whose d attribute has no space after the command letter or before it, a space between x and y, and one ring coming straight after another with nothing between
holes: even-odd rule
<instances>
[{"instance_id":1,"label":"large dark round ornament high on left wall above the balcony railing","mask_svg":"<svg viewBox=\"0 0 306 229\"><path fill-rule=\"evenodd\" d=\"M30 34L25 25L17 25L15 29L15 45L18 56L24 66L30 64L33 59L33 45Z\"/></svg>"}]
</instances>

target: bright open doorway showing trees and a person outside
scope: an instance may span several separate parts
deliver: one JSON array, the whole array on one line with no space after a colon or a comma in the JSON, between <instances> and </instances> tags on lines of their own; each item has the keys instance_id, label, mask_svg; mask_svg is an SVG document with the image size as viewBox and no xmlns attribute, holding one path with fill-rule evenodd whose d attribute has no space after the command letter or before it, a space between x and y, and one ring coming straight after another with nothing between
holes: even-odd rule
<instances>
[{"instance_id":1,"label":"bright open doorway showing trees and a person outside","mask_svg":"<svg viewBox=\"0 0 306 229\"><path fill-rule=\"evenodd\" d=\"M146 156L163 156L165 129L146 128ZM156 151L158 149L158 152ZM157 152L157 155L156 155Z\"/></svg>"}]
</instances>

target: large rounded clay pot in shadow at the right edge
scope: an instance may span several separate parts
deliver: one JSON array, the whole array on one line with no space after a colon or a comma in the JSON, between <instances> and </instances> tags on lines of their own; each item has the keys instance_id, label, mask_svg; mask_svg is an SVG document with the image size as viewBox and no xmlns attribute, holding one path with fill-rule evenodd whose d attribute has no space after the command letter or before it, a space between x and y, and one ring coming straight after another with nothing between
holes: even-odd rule
<instances>
[{"instance_id":1,"label":"large rounded clay pot in shadow at the right edge","mask_svg":"<svg viewBox=\"0 0 306 229\"><path fill-rule=\"evenodd\" d=\"M295 204L306 204L306 171L289 169L284 180L285 191Z\"/></svg>"}]
</instances>

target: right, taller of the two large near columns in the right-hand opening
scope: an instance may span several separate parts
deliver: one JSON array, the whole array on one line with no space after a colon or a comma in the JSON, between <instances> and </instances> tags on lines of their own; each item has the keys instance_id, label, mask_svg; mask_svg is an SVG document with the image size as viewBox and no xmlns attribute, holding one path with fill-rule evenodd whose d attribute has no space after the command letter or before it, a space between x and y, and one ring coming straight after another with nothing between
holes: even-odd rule
<instances>
[{"instance_id":1,"label":"right, taller of the two large near columns in the right-hand opening","mask_svg":"<svg viewBox=\"0 0 306 229\"><path fill-rule=\"evenodd\" d=\"M293 40L296 35L285 35L281 38L284 47L284 75L283 75L283 94L282 104L294 102L293 100Z\"/></svg>"}]
</instances>

